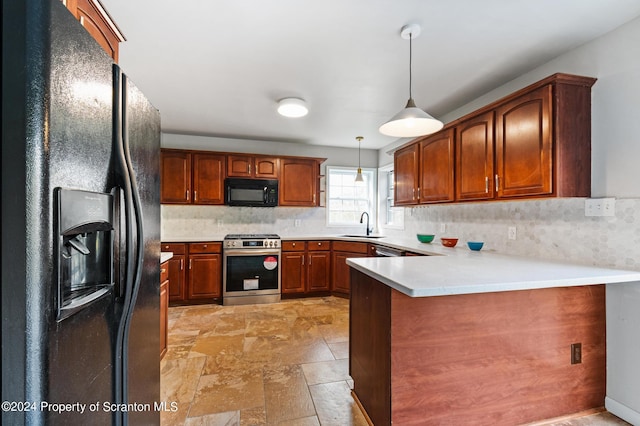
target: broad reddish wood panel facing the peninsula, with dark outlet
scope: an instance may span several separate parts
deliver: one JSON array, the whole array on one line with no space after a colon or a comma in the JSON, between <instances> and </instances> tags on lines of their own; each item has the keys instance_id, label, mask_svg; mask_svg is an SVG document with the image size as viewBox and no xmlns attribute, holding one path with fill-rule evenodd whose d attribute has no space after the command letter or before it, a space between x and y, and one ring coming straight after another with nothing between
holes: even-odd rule
<instances>
[{"instance_id":1,"label":"broad reddish wood panel facing the peninsula, with dark outlet","mask_svg":"<svg viewBox=\"0 0 640 426\"><path fill-rule=\"evenodd\" d=\"M604 405L603 285L424 298L391 290L391 336L394 424L514 425ZM572 343L582 343L581 364L570 363Z\"/></svg>"}]
</instances>

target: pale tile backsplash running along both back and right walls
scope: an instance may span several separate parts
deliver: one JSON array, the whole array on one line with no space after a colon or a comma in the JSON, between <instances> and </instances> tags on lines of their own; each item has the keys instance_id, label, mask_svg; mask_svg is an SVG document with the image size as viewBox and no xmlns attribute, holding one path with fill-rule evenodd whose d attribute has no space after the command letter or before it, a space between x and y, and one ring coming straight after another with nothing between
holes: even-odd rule
<instances>
[{"instance_id":1,"label":"pale tile backsplash running along both back and right walls","mask_svg":"<svg viewBox=\"0 0 640 426\"><path fill-rule=\"evenodd\" d=\"M584 198L440 204L405 208L403 230L484 241L483 250L603 267L640 270L640 199L617 199L615 217L586 217ZM361 233L362 225L326 225L325 208L163 205L162 238L221 237L227 233L321 236ZM441 226L446 230L441 232ZM516 239L508 238L509 227Z\"/></svg>"}]
</instances>

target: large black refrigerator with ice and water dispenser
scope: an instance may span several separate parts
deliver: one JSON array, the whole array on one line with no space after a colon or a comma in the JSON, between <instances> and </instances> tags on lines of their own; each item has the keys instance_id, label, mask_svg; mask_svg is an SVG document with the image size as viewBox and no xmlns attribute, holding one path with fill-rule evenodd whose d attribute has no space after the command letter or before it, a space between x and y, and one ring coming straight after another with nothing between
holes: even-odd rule
<instances>
[{"instance_id":1,"label":"large black refrigerator with ice and water dispenser","mask_svg":"<svg viewBox=\"0 0 640 426\"><path fill-rule=\"evenodd\" d=\"M159 112L60 0L2 13L2 424L159 424Z\"/></svg>"}]
</instances>

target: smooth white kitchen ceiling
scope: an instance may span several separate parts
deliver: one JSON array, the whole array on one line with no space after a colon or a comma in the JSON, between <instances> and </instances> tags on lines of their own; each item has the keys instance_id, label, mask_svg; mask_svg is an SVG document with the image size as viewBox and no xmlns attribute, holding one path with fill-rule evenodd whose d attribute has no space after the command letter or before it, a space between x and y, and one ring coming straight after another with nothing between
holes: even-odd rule
<instances>
[{"instance_id":1,"label":"smooth white kitchen ceiling","mask_svg":"<svg viewBox=\"0 0 640 426\"><path fill-rule=\"evenodd\" d=\"M438 117L640 15L639 0L101 0L168 133L381 148L409 95ZM276 101L305 99L287 119ZM242 143L241 141L239 143Z\"/></svg>"}]
</instances>

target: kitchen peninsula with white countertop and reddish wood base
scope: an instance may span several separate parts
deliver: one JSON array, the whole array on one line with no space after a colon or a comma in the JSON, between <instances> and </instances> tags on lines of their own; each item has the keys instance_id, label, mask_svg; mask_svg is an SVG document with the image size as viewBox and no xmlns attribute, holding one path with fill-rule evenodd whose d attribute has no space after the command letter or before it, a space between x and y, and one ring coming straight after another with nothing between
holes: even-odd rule
<instances>
[{"instance_id":1,"label":"kitchen peninsula with white countertop and reddish wood base","mask_svg":"<svg viewBox=\"0 0 640 426\"><path fill-rule=\"evenodd\" d=\"M373 424L514 425L604 406L604 284L640 272L434 249L347 260L353 393Z\"/></svg>"}]
</instances>

